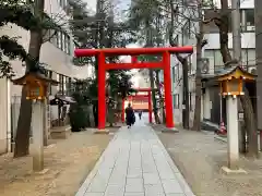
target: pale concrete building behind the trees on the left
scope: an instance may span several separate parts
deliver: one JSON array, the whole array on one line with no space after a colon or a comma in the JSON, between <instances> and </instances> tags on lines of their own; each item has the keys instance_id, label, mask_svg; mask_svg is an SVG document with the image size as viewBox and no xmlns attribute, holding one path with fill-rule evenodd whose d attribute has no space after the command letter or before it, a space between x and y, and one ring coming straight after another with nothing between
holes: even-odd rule
<instances>
[{"instance_id":1,"label":"pale concrete building behind the trees on the left","mask_svg":"<svg viewBox=\"0 0 262 196\"><path fill-rule=\"evenodd\" d=\"M41 46L40 62L48 70L48 76L60 82L58 86L49 88L49 94L67 96L69 95L68 84L73 78L92 77L93 69L91 65L79 68L72 63L73 50L76 44L73 41L72 34L69 30L68 0L46 0L45 11L50 19L53 19L63 27L63 32L58 32L56 36L51 36L50 32L45 33L44 39L46 41ZM19 42L25 49L28 48L29 33L21 27L16 25L4 26L0 29L0 36L2 35L20 37ZM12 61L12 68L15 77L20 77L25 73L25 66L19 60ZM13 137L16 130L21 89L21 86L15 86L5 78L0 79L0 154L8 150L11 135ZM58 118L57 111L57 107L48 107L49 125L52 120Z\"/></svg>"}]
</instances>

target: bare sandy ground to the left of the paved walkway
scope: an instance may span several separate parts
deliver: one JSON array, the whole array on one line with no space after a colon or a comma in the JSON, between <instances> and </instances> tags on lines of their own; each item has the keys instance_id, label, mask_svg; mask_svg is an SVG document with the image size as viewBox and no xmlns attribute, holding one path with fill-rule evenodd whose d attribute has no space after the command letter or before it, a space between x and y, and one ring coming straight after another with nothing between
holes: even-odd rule
<instances>
[{"instance_id":1,"label":"bare sandy ground to the left of the paved walkway","mask_svg":"<svg viewBox=\"0 0 262 196\"><path fill-rule=\"evenodd\" d=\"M73 196L110 142L110 135L88 131L68 139L51 140L45 148L46 173L32 172L32 158L0 156L1 196Z\"/></svg>"}]
</instances>

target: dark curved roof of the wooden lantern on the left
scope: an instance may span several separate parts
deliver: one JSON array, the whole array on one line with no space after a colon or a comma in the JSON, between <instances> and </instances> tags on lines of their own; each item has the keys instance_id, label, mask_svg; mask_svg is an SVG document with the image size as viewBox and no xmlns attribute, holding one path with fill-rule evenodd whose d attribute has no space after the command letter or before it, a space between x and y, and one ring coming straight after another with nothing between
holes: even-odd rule
<instances>
[{"instance_id":1,"label":"dark curved roof of the wooden lantern on the left","mask_svg":"<svg viewBox=\"0 0 262 196\"><path fill-rule=\"evenodd\" d=\"M43 83L51 84L51 85L58 85L59 82L55 81L52 78L46 77L44 74L39 72L27 72L22 77L12 79L12 82L16 85L25 85L28 81L40 81Z\"/></svg>"}]
</instances>

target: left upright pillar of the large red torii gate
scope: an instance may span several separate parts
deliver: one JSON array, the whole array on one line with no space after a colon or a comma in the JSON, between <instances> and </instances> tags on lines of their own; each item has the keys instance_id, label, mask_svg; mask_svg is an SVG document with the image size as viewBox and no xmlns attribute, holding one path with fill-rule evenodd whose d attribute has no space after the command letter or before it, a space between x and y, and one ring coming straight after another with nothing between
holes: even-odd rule
<instances>
[{"instance_id":1,"label":"left upright pillar of the large red torii gate","mask_svg":"<svg viewBox=\"0 0 262 196\"><path fill-rule=\"evenodd\" d=\"M98 130L106 127L106 68L105 54L98 54Z\"/></svg>"}]
</instances>

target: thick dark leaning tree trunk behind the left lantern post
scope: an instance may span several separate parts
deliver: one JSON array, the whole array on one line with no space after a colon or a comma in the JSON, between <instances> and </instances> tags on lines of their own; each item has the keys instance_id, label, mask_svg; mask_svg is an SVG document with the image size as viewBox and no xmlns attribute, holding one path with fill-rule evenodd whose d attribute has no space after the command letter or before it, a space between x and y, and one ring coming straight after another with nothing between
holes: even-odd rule
<instances>
[{"instance_id":1,"label":"thick dark leaning tree trunk behind the left lantern post","mask_svg":"<svg viewBox=\"0 0 262 196\"><path fill-rule=\"evenodd\" d=\"M33 13L38 19L38 24L29 29L29 47L28 54L34 61L26 61L26 72L35 71L39 65L40 48L45 41L50 40L58 30L62 30L63 22L60 14L56 14L56 19L48 17L44 12L45 0L35 0L28 2L32 5ZM56 22L56 23L55 23ZM50 33L50 34L49 34ZM26 88L22 88L20 115L17 121L17 130L15 135L14 157L23 157L28 155L29 132L32 121L32 102L26 99Z\"/></svg>"}]
</instances>

